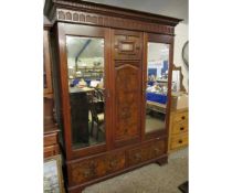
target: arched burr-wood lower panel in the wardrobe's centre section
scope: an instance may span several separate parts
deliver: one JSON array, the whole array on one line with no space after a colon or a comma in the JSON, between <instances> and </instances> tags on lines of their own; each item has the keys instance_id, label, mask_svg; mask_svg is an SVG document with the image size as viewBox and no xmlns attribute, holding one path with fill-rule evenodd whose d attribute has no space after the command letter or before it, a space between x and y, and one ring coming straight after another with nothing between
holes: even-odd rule
<instances>
[{"instance_id":1,"label":"arched burr-wood lower panel in the wardrobe's centre section","mask_svg":"<svg viewBox=\"0 0 232 193\"><path fill-rule=\"evenodd\" d=\"M139 67L122 64L116 72L116 140L139 137L140 86Z\"/></svg>"}]
</instances>

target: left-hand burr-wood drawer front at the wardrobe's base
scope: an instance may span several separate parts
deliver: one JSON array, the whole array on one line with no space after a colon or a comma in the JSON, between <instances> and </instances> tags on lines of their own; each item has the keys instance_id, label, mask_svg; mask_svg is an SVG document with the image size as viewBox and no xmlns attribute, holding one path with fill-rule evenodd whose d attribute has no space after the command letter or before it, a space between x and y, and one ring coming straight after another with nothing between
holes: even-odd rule
<instances>
[{"instance_id":1,"label":"left-hand burr-wood drawer front at the wardrobe's base","mask_svg":"<svg viewBox=\"0 0 232 193\"><path fill-rule=\"evenodd\" d=\"M71 163L71 185L77 185L124 169L125 152L117 152Z\"/></svg>"}]
</instances>

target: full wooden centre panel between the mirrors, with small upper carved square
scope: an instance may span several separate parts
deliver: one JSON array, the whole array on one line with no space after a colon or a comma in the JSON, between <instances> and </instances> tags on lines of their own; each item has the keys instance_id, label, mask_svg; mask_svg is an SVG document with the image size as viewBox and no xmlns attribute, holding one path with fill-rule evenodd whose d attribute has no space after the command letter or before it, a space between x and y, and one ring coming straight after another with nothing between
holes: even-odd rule
<instances>
[{"instance_id":1,"label":"full wooden centre panel between the mirrors, with small upper carved square","mask_svg":"<svg viewBox=\"0 0 232 193\"><path fill-rule=\"evenodd\" d=\"M141 133L141 33L113 31L114 146L138 142Z\"/></svg>"}]
</instances>

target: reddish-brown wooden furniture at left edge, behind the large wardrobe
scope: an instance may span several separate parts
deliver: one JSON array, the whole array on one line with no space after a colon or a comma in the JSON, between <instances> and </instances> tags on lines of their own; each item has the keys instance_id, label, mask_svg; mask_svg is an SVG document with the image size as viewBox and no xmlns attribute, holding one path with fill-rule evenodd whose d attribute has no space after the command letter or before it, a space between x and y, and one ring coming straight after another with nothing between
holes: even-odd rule
<instances>
[{"instance_id":1,"label":"reddish-brown wooden furniture at left edge, behind the large wardrobe","mask_svg":"<svg viewBox=\"0 0 232 193\"><path fill-rule=\"evenodd\" d=\"M51 72L51 52L50 52L50 29L51 25L44 25L43 31L43 157L44 159L60 153L59 129L54 120L54 99Z\"/></svg>"}]
</instances>

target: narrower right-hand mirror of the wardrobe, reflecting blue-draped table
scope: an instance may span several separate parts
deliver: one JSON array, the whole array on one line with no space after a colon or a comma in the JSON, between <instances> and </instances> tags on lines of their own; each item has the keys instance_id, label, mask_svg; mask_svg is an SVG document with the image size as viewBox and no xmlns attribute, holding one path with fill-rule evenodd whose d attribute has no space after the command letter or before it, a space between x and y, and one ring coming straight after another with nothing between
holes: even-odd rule
<instances>
[{"instance_id":1,"label":"narrower right-hand mirror of the wardrobe, reflecting blue-draped table","mask_svg":"<svg viewBox=\"0 0 232 193\"><path fill-rule=\"evenodd\" d=\"M168 94L169 45L148 42L146 132L165 129Z\"/></svg>"}]
</instances>

